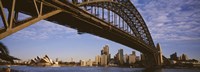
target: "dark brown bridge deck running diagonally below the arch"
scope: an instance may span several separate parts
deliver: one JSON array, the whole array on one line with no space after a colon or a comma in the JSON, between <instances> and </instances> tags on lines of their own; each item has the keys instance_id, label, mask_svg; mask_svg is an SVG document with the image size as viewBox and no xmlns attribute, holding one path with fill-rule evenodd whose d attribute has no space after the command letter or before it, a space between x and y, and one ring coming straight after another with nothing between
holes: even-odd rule
<instances>
[{"instance_id":1,"label":"dark brown bridge deck running diagonally below the arch","mask_svg":"<svg viewBox=\"0 0 200 72\"><path fill-rule=\"evenodd\" d=\"M12 0L2 0L3 6L11 8ZM17 0L15 9L21 13L37 17L37 11L32 0ZM56 2L56 0L47 0L44 3L43 14L50 11L61 9L62 12L53 15L45 20L60 24L63 26L77 29L79 32L94 34L109 40L121 43L130 48L136 49L142 53L157 52L155 48L145 45L130 34L109 25L105 21L87 13L86 11L70 4L68 2ZM24 21L25 22L25 21ZM20 26L16 23L14 27Z\"/></svg>"}]
</instances>

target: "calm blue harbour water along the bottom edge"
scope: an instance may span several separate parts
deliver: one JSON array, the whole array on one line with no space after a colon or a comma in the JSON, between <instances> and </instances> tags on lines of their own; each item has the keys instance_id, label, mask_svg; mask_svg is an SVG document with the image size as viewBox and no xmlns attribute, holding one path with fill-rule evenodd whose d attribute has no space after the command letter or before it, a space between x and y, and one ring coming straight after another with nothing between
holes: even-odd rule
<instances>
[{"instance_id":1,"label":"calm blue harbour water along the bottom edge","mask_svg":"<svg viewBox=\"0 0 200 72\"><path fill-rule=\"evenodd\" d=\"M119 68L119 67L30 67L11 66L20 72L150 72L143 68ZM153 72L200 72L200 69L159 69Z\"/></svg>"}]
</instances>

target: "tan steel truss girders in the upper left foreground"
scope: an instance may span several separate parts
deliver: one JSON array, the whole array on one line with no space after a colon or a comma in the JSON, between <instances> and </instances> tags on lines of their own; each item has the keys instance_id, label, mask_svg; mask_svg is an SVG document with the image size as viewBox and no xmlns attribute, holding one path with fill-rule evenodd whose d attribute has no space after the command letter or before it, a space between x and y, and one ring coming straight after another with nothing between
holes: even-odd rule
<instances>
[{"instance_id":1,"label":"tan steel truss girders in the upper left foreground","mask_svg":"<svg viewBox=\"0 0 200 72\"><path fill-rule=\"evenodd\" d=\"M24 20L18 20L18 8L16 5L16 0L8 0L8 3L12 4L4 4L2 3L3 1L0 0L0 15L2 17L2 21L4 24L4 27L0 29L0 39L5 38L6 36L9 36L21 29L24 29L40 20L46 19L48 17L51 17L53 15L56 15L62 10L59 9L50 9L47 11L43 10L43 1L39 0L31 0L34 4L35 12L32 17L26 18ZM6 19L6 14L4 8L8 9L8 19Z\"/></svg>"}]
</instances>

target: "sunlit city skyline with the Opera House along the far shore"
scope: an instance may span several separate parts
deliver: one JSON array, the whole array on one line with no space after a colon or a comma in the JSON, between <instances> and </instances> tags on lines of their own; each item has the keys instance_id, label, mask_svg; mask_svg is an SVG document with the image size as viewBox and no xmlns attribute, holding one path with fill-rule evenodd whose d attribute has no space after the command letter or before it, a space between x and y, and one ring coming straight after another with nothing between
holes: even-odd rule
<instances>
[{"instance_id":1,"label":"sunlit city skyline with the Opera House along the far shore","mask_svg":"<svg viewBox=\"0 0 200 72\"><path fill-rule=\"evenodd\" d=\"M120 48L120 49L118 49L118 52L116 52L116 54L113 54L113 57L111 57L110 55L111 54L109 53L109 46L108 45L104 45L102 47L102 49L99 50L99 54L95 55L95 57L90 58L90 59L84 59L84 60L80 59L80 60L74 61L73 57L68 57L70 60L64 60L63 61L63 60L59 60L59 58L55 58L55 59L52 59L52 60L53 61L57 61L57 62L58 61L61 61L61 62L80 62L80 61L91 60L91 61L94 61L94 62L98 63L98 62L102 62L102 59L103 59L103 61L107 61L107 62L103 62L102 65L104 65L104 64L109 63L109 61L111 59L115 60L115 58L119 59L119 61L121 60L123 62L127 62L126 59L128 57L128 63L131 63L132 60L133 60L133 63L135 63L136 60L137 60L136 57L139 57L138 61L141 61L143 54L140 53L139 55L136 55L136 51L135 50L131 51L131 53L123 53L123 49ZM37 56L37 58L42 57L42 56L47 56L47 55L40 55L40 56ZM106 57L106 60L104 60L104 56ZM32 58L32 59L34 59L34 58ZM22 61L30 61L32 59L22 60ZM131 61L129 61L129 59L131 59ZM161 58L161 59L162 59L161 63L163 63L163 58ZM179 54L178 55L177 52L174 52L174 53L170 54L170 56L167 57L167 59L169 59L169 60L193 60L192 58L190 58L189 56L187 56L187 54L183 53L183 54ZM101 64L99 64L99 65L101 65Z\"/></svg>"}]
</instances>

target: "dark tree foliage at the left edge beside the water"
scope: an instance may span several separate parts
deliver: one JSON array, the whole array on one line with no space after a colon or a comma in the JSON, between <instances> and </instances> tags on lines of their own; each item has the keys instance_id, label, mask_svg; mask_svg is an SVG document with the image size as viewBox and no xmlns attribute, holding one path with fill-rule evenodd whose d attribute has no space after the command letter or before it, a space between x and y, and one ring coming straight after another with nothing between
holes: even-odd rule
<instances>
[{"instance_id":1,"label":"dark tree foliage at the left edge beside the water","mask_svg":"<svg viewBox=\"0 0 200 72\"><path fill-rule=\"evenodd\" d=\"M0 42L0 59L14 63L13 60L20 60L16 57L10 56L8 48Z\"/></svg>"}]
</instances>

